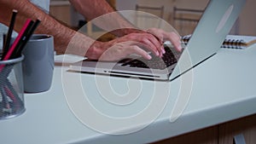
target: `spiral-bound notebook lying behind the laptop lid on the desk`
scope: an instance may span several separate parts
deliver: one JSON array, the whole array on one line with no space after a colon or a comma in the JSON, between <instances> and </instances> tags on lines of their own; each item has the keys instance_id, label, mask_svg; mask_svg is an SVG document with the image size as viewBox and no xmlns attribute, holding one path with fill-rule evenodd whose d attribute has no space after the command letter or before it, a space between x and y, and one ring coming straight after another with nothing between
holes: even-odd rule
<instances>
[{"instance_id":1,"label":"spiral-bound notebook lying behind the laptop lid on the desk","mask_svg":"<svg viewBox=\"0 0 256 144\"><path fill-rule=\"evenodd\" d=\"M183 36L183 43L189 43L190 37L191 35ZM221 45L221 48L246 49L254 43L256 43L256 36L227 35Z\"/></svg>"}]
</instances>

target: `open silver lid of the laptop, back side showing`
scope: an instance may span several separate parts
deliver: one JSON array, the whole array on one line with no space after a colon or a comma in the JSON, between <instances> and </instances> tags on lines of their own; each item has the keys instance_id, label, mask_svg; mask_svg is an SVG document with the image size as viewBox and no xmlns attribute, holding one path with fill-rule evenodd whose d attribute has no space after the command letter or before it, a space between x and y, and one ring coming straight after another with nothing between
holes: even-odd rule
<instances>
[{"instance_id":1,"label":"open silver lid of the laptop, back side showing","mask_svg":"<svg viewBox=\"0 0 256 144\"><path fill-rule=\"evenodd\" d=\"M189 39L171 78L177 78L220 49L246 0L212 0Z\"/></svg>"}]
</instances>

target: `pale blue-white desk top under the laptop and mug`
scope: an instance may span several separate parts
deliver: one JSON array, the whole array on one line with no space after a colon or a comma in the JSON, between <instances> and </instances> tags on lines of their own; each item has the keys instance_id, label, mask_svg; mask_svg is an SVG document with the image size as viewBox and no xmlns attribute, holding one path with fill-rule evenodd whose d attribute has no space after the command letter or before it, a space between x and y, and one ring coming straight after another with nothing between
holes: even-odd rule
<instances>
[{"instance_id":1,"label":"pale blue-white desk top under the laptop and mug","mask_svg":"<svg viewBox=\"0 0 256 144\"><path fill-rule=\"evenodd\" d=\"M256 113L255 61L256 45L244 50L220 49L217 55L193 69L193 84L189 99L183 99L182 96L186 95L183 95L184 90L180 91L181 84L189 79L187 78L189 72L171 83L111 77L108 79L109 83L120 94L127 92L126 84L141 86L139 97L126 107L110 104L103 100L102 93L98 89L99 85L96 84L97 80L93 75L67 72L67 66L62 68L55 66L51 89L43 93L26 94L26 112L17 118L0 121L0 141L6 144L146 143L245 117ZM73 77L78 75L81 81L76 84ZM97 78L108 77L97 76ZM75 117L77 113L73 113L69 108L72 107L72 102L67 96L67 85L63 84L66 82L73 85L68 89L73 91L74 99L79 96L79 92L75 89L82 85L85 91L84 95L90 99L91 104L102 113L112 117L124 118L143 111L143 107L147 107L148 102L152 102L150 101L152 94L160 97L161 100L161 98L166 98L166 89L169 89L168 94L170 95L167 97L163 111L146 128L127 135L106 135L90 129L82 123L82 119ZM155 89L155 84L160 84L161 88ZM148 91L148 89L150 90ZM152 90L154 90L153 93ZM177 104L177 100L180 102L179 104L186 102L180 100L189 101L183 107ZM183 108L184 111L182 111ZM173 121L171 122L171 114L175 109L182 114L180 116L172 115ZM154 110L150 111L154 112ZM84 107L81 107L81 112L84 112L86 116ZM95 119L95 124L100 121ZM105 125L108 125L108 122ZM121 132L136 130L140 126L141 124L136 122L131 123L122 128Z\"/></svg>"}]
</instances>

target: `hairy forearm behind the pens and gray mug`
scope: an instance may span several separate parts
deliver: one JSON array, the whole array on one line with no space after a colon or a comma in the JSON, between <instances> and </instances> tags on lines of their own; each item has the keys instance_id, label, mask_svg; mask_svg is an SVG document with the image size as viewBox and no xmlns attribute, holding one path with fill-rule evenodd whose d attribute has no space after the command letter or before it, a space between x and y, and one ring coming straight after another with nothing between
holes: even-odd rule
<instances>
[{"instance_id":1,"label":"hairy forearm behind the pens and gray mug","mask_svg":"<svg viewBox=\"0 0 256 144\"><path fill-rule=\"evenodd\" d=\"M36 33L46 33L55 37L55 50L64 53L67 46L77 33L67 26L61 25L57 20L45 14L37 6L30 3L28 0L15 1L15 0L0 0L0 22L9 26L9 19L12 14L12 9L17 9L17 19L15 22L15 31L20 32L21 26L27 18L32 20L41 20ZM93 39L83 36L83 42L92 43ZM75 55L82 55L82 52L87 51L90 45L86 43L75 43L73 49L68 49L68 53ZM85 54L84 54L85 55Z\"/></svg>"}]
</instances>

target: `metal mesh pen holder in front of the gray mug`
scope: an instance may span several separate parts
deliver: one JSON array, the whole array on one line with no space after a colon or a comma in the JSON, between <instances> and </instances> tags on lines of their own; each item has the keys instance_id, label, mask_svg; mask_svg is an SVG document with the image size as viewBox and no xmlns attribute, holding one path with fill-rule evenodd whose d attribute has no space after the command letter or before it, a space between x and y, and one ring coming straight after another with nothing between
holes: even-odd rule
<instances>
[{"instance_id":1,"label":"metal mesh pen holder in front of the gray mug","mask_svg":"<svg viewBox=\"0 0 256 144\"><path fill-rule=\"evenodd\" d=\"M0 60L0 119L25 112L21 61L24 56Z\"/></svg>"}]
</instances>

